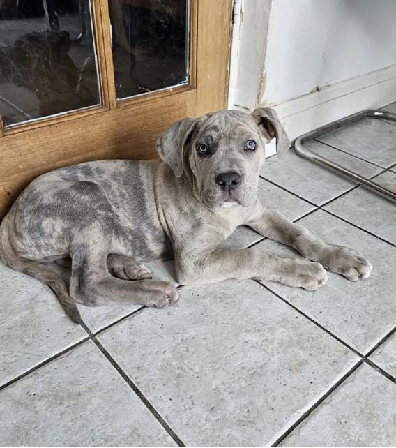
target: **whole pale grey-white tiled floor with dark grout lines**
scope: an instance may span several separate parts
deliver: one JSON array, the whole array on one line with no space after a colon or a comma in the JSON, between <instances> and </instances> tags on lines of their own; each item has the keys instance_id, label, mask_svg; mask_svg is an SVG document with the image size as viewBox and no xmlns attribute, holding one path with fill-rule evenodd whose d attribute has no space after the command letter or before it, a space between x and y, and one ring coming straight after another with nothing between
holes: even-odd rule
<instances>
[{"instance_id":1,"label":"whole pale grey-white tiled floor with dark grout lines","mask_svg":"<svg viewBox=\"0 0 396 448\"><path fill-rule=\"evenodd\" d=\"M396 189L396 124L367 119L310 147ZM167 310L82 307L84 328L0 265L1 446L396 444L396 205L294 151L262 177L263 201L367 255L372 276L330 274L317 292L181 287ZM297 256L244 227L224 243L252 244ZM172 263L150 268L174 278Z\"/></svg>"}]
</instances>

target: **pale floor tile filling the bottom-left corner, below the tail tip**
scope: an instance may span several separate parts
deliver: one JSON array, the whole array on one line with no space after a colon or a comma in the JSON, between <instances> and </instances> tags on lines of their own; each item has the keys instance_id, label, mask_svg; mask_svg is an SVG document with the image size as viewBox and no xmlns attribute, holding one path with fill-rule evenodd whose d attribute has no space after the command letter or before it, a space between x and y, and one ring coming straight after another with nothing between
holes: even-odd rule
<instances>
[{"instance_id":1,"label":"pale floor tile filling the bottom-left corner, below the tail tip","mask_svg":"<svg viewBox=\"0 0 396 448\"><path fill-rule=\"evenodd\" d=\"M1 445L176 446L91 341L0 391Z\"/></svg>"}]
</instances>

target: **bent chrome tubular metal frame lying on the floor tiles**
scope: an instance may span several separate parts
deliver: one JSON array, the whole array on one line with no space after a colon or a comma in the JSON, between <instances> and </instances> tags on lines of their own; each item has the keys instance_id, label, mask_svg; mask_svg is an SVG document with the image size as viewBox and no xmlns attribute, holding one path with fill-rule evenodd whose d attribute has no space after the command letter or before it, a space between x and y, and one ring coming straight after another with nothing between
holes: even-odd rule
<instances>
[{"instance_id":1,"label":"bent chrome tubular metal frame lying on the floor tiles","mask_svg":"<svg viewBox=\"0 0 396 448\"><path fill-rule=\"evenodd\" d=\"M312 162L319 163L319 165L323 165L330 168L331 170L335 170L337 172L340 172L341 174L344 174L344 176L355 179L359 182L359 184L370 188L370 190L374 191L375 193L379 193L379 195L385 197L386 199L396 202L396 191L389 190L388 188L376 184L376 182L370 181L370 179L367 179L366 177L363 177L354 171L348 170L348 168L345 168L342 165L338 165L337 163L334 163L327 158L318 156L317 154L314 154L312 151L303 146L303 143L307 142L308 140L312 140L316 137L319 137L319 135L330 132L330 130L335 130L337 128L340 128L340 126L353 123L354 121L358 121L365 117L386 119L396 122L396 114L393 114L392 112L383 112L381 110L365 110L363 112L358 112L357 114L350 115L349 117L341 120L333 121L333 123L327 124L326 126L322 126L321 128L317 128L309 133L301 135L300 137L298 137L296 142L294 142L296 153L298 154L298 156L305 157L309 160L312 160Z\"/></svg>"}]
</instances>

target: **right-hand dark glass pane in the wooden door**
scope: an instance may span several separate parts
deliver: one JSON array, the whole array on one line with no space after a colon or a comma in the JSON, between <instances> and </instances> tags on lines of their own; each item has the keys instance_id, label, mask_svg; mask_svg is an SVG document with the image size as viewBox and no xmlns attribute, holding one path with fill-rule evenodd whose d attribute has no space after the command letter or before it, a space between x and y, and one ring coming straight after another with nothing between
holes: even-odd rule
<instances>
[{"instance_id":1,"label":"right-hand dark glass pane in the wooden door","mask_svg":"<svg viewBox=\"0 0 396 448\"><path fill-rule=\"evenodd\" d=\"M117 98L188 83L188 0L109 0Z\"/></svg>"}]
</instances>

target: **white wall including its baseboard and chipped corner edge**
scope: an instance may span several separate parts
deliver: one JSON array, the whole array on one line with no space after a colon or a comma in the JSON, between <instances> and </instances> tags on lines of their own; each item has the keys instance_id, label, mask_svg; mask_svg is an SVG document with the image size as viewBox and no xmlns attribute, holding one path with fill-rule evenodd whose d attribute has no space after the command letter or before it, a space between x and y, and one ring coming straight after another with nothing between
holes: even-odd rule
<instances>
[{"instance_id":1,"label":"white wall including its baseboard and chipped corner edge","mask_svg":"<svg viewBox=\"0 0 396 448\"><path fill-rule=\"evenodd\" d=\"M235 107L275 107L293 140L396 101L396 0L244 3Z\"/></svg>"}]
</instances>

